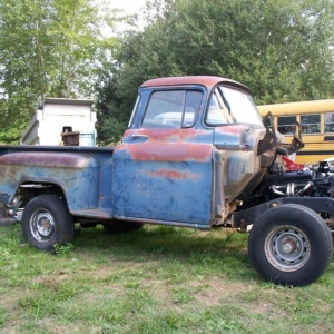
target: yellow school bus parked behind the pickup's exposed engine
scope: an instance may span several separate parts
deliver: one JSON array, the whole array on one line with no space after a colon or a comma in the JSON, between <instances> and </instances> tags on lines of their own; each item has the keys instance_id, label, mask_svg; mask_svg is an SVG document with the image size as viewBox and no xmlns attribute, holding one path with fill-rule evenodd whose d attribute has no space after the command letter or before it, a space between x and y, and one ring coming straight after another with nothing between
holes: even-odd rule
<instances>
[{"instance_id":1,"label":"yellow school bus parked behind the pickup's exposed engine","mask_svg":"<svg viewBox=\"0 0 334 334\"><path fill-rule=\"evenodd\" d=\"M273 115L276 130L293 138L293 126L301 124L305 146L296 154L296 163L316 163L334 157L334 99L257 106L264 117ZM272 126L272 125L268 125Z\"/></svg>"}]
</instances>

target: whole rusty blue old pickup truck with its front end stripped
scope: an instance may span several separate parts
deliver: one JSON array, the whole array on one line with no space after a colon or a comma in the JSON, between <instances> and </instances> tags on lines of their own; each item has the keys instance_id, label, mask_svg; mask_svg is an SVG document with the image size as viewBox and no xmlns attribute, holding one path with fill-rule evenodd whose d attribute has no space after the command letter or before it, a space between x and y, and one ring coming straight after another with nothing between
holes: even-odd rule
<instances>
[{"instance_id":1,"label":"whole rusty blue old pickup truck with its front end stripped","mask_svg":"<svg viewBox=\"0 0 334 334\"><path fill-rule=\"evenodd\" d=\"M239 82L151 79L114 148L0 146L0 223L21 223L47 252L71 242L75 223L252 226L248 255L263 279L311 284L332 259L334 191L331 177L285 170L282 157L302 146L262 121Z\"/></svg>"}]
</instances>

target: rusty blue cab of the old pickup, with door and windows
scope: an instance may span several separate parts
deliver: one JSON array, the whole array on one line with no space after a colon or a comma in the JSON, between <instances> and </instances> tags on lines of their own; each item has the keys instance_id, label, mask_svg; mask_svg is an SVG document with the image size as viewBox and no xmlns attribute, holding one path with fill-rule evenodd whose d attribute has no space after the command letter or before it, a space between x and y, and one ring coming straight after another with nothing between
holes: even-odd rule
<instances>
[{"instance_id":1,"label":"rusty blue cab of the old pickup, with door and windows","mask_svg":"<svg viewBox=\"0 0 334 334\"><path fill-rule=\"evenodd\" d=\"M208 228L236 209L276 158L242 84L219 77L144 82L115 148L115 215ZM116 194L115 194L116 195ZM176 223L177 222L177 223Z\"/></svg>"}]
</instances>

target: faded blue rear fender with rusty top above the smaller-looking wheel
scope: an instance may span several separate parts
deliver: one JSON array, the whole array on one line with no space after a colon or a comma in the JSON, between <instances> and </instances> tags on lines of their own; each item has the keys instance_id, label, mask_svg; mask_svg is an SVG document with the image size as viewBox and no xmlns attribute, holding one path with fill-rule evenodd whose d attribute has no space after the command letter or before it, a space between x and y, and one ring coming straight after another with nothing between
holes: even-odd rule
<instances>
[{"instance_id":1,"label":"faded blue rear fender with rusty top above the smaller-looking wheel","mask_svg":"<svg viewBox=\"0 0 334 334\"><path fill-rule=\"evenodd\" d=\"M55 184L70 210L98 207L100 164L88 154L27 151L0 157L0 202L10 204L22 184Z\"/></svg>"}]
</instances>

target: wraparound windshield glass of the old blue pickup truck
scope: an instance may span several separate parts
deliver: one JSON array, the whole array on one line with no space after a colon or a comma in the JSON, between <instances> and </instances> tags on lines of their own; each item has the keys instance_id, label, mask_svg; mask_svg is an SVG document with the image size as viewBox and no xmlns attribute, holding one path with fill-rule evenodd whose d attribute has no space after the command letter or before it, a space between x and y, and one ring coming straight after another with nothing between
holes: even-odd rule
<instances>
[{"instance_id":1,"label":"wraparound windshield glass of the old blue pickup truck","mask_svg":"<svg viewBox=\"0 0 334 334\"><path fill-rule=\"evenodd\" d=\"M262 118L249 94L218 86L209 100L205 122L210 126L225 124L262 125Z\"/></svg>"}]
</instances>

